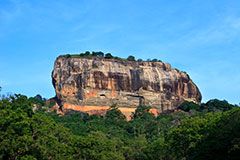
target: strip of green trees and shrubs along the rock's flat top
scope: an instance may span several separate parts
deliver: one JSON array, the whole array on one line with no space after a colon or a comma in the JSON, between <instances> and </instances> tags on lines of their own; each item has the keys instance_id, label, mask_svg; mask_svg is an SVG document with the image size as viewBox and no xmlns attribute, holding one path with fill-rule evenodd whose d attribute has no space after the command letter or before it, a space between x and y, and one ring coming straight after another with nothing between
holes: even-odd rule
<instances>
[{"instance_id":1,"label":"strip of green trees and shrubs along the rock's flat top","mask_svg":"<svg viewBox=\"0 0 240 160\"><path fill-rule=\"evenodd\" d=\"M113 56L111 53L106 53L104 54L102 51L86 51L84 53L80 54L65 54L65 55L60 55L59 57L65 57L65 58L93 58L93 57L98 57L98 58L105 58L105 59L116 59L116 60L121 60L121 61L137 61L137 62L162 62L161 60L158 59L147 59L147 60L142 60L142 59L135 59L134 56L130 55L127 58L120 58L117 56Z\"/></svg>"}]
</instances>

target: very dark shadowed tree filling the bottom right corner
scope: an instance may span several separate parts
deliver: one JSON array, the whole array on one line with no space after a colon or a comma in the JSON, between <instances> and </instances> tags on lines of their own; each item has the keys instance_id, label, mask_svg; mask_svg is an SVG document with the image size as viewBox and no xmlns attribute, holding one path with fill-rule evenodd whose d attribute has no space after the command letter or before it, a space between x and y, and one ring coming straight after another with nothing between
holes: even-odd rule
<instances>
[{"instance_id":1,"label":"very dark shadowed tree filling the bottom right corner","mask_svg":"<svg viewBox=\"0 0 240 160\"><path fill-rule=\"evenodd\" d=\"M240 109L220 114L218 121L205 131L206 136L189 152L189 159L239 159Z\"/></svg>"}]
</instances>

